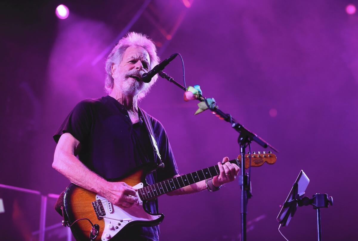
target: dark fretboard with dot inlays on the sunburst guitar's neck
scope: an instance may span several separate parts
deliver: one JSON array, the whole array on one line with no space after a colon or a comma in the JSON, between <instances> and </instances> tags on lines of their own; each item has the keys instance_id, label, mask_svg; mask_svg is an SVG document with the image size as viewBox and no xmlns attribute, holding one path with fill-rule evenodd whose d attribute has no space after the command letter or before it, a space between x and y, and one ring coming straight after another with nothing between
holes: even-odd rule
<instances>
[{"instance_id":1,"label":"dark fretboard with dot inlays on the sunburst guitar's neck","mask_svg":"<svg viewBox=\"0 0 358 241\"><path fill-rule=\"evenodd\" d=\"M241 167L238 159L230 160L230 163L234 163ZM168 179L155 183L153 185L145 186L144 188L138 189L138 194L142 200L149 200L156 198L164 193L169 193L184 186L197 183L199 181L212 178L220 174L219 166L211 166L205 169L194 171L193 173L188 173L176 178Z\"/></svg>"}]
</instances>

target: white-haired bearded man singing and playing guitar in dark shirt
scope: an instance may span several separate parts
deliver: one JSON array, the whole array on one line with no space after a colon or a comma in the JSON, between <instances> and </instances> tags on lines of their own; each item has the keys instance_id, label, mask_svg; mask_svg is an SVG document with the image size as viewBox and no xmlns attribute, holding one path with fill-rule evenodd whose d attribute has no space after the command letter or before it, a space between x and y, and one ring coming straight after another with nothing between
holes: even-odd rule
<instances>
[{"instance_id":1,"label":"white-haired bearded man singing and playing guitar in dark shirt","mask_svg":"<svg viewBox=\"0 0 358 241\"><path fill-rule=\"evenodd\" d=\"M147 182L154 184L179 176L163 126L138 107L138 100L158 78L155 76L150 83L144 83L141 75L158 62L155 45L149 38L128 33L107 58L105 89L109 95L79 102L54 135L57 146L53 168L72 183L98 193L121 208L137 202L136 189L112 181L158 158L149 133L154 134L165 167L149 174ZM149 127L143 123L146 119ZM228 160L223 159L224 165L218 162L220 175L168 194L214 191L233 181L239 167ZM156 213L158 205L151 201L146 208ZM120 235L121 240L159 240L159 227L133 226Z\"/></svg>"}]
</instances>

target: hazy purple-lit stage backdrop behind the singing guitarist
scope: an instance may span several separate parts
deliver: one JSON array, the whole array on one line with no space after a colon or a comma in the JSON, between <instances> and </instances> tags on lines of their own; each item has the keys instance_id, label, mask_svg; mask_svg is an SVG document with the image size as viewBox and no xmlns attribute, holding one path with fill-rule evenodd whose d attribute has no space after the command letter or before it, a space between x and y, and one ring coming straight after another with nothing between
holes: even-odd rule
<instances>
[{"instance_id":1,"label":"hazy purple-lit stage backdrop behind the singing guitarist","mask_svg":"<svg viewBox=\"0 0 358 241\"><path fill-rule=\"evenodd\" d=\"M78 101L105 95L108 48L121 32L137 31L153 38L161 58L181 53L187 85L199 84L280 150L275 165L251 171L248 240L284 240L276 216L301 169L308 197L334 197L321 211L323 240L357 238L358 15L345 7L358 1L126 2L2 3L0 183L43 194L68 185L51 167L52 135ZM68 6L67 19L56 18L58 4ZM182 83L179 58L165 72ZM183 174L239 153L238 133L209 111L194 116L196 104L163 79L140 103L163 123ZM238 240L239 191L233 182L216 193L160 197L161 240ZM58 223L48 210L48 225ZM290 241L315 240L314 209L298 208L282 232Z\"/></svg>"}]
</instances>

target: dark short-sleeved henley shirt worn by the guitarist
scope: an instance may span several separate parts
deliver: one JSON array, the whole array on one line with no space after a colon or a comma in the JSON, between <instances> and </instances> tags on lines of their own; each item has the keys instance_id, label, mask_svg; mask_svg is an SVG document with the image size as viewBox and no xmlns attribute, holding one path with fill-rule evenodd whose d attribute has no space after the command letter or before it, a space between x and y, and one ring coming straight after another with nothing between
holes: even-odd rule
<instances>
[{"instance_id":1,"label":"dark short-sleeved henley shirt worn by the guitarist","mask_svg":"<svg viewBox=\"0 0 358 241\"><path fill-rule=\"evenodd\" d=\"M107 95L79 102L53 136L57 143L63 133L70 133L81 143L78 159L88 169L106 180L118 179L147 162L155 161L153 147L139 108L140 122L132 124L125 107ZM162 124L149 115L164 169L149 174L148 184L178 174L168 136ZM148 202L147 209L158 212L157 202ZM159 227L133 227L134 239L158 240ZM138 235L138 236L133 236Z\"/></svg>"}]
</instances>

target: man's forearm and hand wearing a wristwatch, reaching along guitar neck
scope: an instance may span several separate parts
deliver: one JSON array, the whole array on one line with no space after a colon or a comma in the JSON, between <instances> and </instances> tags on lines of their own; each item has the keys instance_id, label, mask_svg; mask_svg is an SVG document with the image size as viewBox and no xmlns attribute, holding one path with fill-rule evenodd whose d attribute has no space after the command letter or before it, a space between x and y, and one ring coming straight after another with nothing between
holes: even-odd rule
<instances>
[{"instance_id":1,"label":"man's forearm and hand wearing a wristwatch, reaching along guitar neck","mask_svg":"<svg viewBox=\"0 0 358 241\"><path fill-rule=\"evenodd\" d=\"M221 162L218 162L220 174L213 177L213 185L215 187L219 187L225 183L235 180L237 174L239 173L240 168L236 164L231 164L229 162L228 157L224 157L223 163L224 165L222 165ZM178 176L180 175L179 174L175 175L173 178L176 178ZM207 189L206 180L203 180L188 186L184 186L183 188L179 188L172 192L169 192L167 193L167 195L173 196L173 195L197 193L205 189Z\"/></svg>"}]
</instances>

